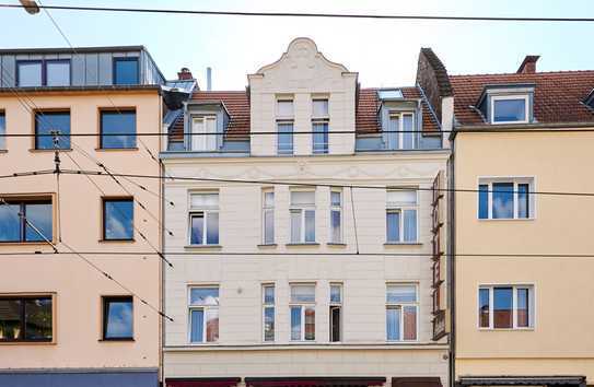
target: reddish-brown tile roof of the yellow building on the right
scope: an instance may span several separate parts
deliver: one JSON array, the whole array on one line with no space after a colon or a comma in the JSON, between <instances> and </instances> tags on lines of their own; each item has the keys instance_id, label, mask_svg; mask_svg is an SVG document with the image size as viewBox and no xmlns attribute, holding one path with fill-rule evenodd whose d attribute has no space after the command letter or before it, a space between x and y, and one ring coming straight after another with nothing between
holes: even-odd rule
<instances>
[{"instance_id":1,"label":"reddish-brown tile roof of the yellow building on the right","mask_svg":"<svg viewBox=\"0 0 594 387\"><path fill-rule=\"evenodd\" d=\"M451 75L450 80L458 125L487 125L469 106L476 105L486 85L510 83L535 84L534 118L537 122L594 121L594 113L582 103L594 87L594 71Z\"/></svg>"}]
</instances>

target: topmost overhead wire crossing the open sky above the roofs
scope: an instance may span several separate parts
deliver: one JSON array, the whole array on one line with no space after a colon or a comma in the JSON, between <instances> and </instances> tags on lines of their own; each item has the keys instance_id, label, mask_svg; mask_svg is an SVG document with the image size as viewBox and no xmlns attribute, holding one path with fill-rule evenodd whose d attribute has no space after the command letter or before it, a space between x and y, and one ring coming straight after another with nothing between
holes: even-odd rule
<instances>
[{"instance_id":1,"label":"topmost overhead wire crossing the open sky above the roofs","mask_svg":"<svg viewBox=\"0 0 594 387\"><path fill-rule=\"evenodd\" d=\"M22 4L0 3L0 8L24 8ZM594 22L594 17L526 17L526 16L455 16L421 14L371 14L371 13L329 13L329 12L247 12L247 11L207 11L154 8L116 8L116 7L75 7L40 5L40 9L81 11L81 12L119 12L119 13L159 13L180 15L219 15L219 16L269 16L269 17L327 17L327 19L371 19L371 20L414 20L414 21L458 21L458 22Z\"/></svg>"}]
</instances>

